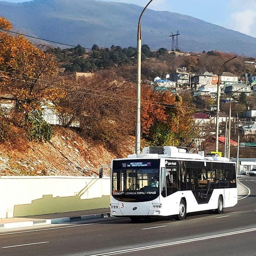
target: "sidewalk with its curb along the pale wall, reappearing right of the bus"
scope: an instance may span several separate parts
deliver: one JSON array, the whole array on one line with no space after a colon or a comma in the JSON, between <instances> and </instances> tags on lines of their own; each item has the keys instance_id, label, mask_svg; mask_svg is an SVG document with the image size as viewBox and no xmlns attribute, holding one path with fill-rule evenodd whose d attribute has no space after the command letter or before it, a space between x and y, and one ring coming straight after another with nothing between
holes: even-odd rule
<instances>
[{"instance_id":1,"label":"sidewalk with its curb along the pale wall, reappearing right of the bus","mask_svg":"<svg viewBox=\"0 0 256 256\"><path fill-rule=\"evenodd\" d=\"M239 177L242 177L242 176L239 176ZM237 184L238 184L238 199L239 199L248 194L248 189L242 186L242 184L239 182ZM57 224L57 223L71 222L76 220L92 220L92 219L107 218L107 217L110 217L109 208L53 213L53 214L42 214L42 215L27 216L27 217L14 217L14 218L0 219L0 230L47 225L47 224Z\"/></svg>"}]
</instances>

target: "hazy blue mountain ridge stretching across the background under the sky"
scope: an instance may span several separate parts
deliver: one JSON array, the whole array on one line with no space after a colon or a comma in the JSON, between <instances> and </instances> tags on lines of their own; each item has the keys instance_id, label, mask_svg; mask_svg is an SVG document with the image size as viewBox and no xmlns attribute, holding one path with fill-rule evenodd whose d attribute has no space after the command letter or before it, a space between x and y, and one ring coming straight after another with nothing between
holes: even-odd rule
<instances>
[{"instance_id":1,"label":"hazy blue mountain ridge stretching across the background under the sky","mask_svg":"<svg viewBox=\"0 0 256 256\"><path fill-rule=\"evenodd\" d=\"M91 48L136 46L142 7L95 0L0 2L0 15L14 30L71 45ZM171 31L179 30L179 48L186 52L217 50L256 56L256 38L187 15L147 9L142 18L142 44L170 49ZM62 46L63 47L63 46Z\"/></svg>"}]
</instances>

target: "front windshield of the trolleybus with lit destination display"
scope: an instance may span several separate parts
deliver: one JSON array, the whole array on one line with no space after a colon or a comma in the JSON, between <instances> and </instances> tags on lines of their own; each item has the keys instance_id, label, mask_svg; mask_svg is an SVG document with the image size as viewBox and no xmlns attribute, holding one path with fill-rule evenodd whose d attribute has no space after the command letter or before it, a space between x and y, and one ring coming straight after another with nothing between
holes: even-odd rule
<instances>
[{"instance_id":1,"label":"front windshield of the trolleybus with lit destination display","mask_svg":"<svg viewBox=\"0 0 256 256\"><path fill-rule=\"evenodd\" d=\"M119 201L142 202L159 196L159 159L114 160L112 195Z\"/></svg>"}]
</instances>

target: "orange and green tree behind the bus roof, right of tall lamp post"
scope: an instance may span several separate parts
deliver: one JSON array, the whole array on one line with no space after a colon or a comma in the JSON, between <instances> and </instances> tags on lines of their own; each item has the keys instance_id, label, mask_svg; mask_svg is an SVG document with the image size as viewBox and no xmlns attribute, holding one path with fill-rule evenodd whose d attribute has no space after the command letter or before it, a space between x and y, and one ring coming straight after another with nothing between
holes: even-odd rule
<instances>
[{"instance_id":1,"label":"orange and green tree behind the bus roof, right of tall lamp post","mask_svg":"<svg viewBox=\"0 0 256 256\"><path fill-rule=\"evenodd\" d=\"M147 88L142 99L142 137L150 145L178 146L191 140L192 111L182 96Z\"/></svg>"}]
</instances>

